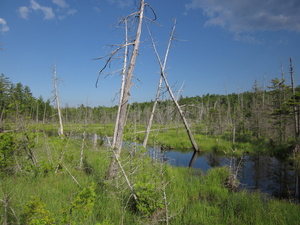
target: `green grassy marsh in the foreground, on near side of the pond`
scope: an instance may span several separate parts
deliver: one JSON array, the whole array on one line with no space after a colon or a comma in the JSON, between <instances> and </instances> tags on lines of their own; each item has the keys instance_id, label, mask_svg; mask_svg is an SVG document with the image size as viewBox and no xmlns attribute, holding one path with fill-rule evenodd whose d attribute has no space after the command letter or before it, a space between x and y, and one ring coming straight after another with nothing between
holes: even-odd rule
<instances>
[{"instance_id":1,"label":"green grassy marsh in the foreground, on near side of the pond","mask_svg":"<svg viewBox=\"0 0 300 225\"><path fill-rule=\"evenodd\" d=\"M110 125L65 127L73 134L84 129L112 132ZM124 146L124 172L106 180L112 152L102 142L94 146L84 136L62 139L53 125L28 130L35 133L1 134L2 143L11 144L1 145L1 224L299 224L299 205L236 192L226 167L204 175ZM184 135L181 130L171 134ZM5 155L7 146L12 149Z\"/></svg>"}]
</instances>

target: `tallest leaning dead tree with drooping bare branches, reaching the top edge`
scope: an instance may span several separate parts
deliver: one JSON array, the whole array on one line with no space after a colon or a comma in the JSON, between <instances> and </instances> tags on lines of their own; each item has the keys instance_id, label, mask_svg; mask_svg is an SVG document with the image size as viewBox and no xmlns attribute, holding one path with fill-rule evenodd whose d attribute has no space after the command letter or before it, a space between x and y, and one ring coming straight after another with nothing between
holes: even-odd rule
<instances>
[{"instance_id":1,"label":"tallest leaning dead tree with drooping bare branches, reaching the top edge","mask_svg":"<svg viewBox=\"0 0 300 225\"><path fill-rule=\"evenodd\" d=\"M139 11L132 13L123 19L125 24L125 33L126 33L126 40L125 43L110 54L106 56L107 60L103 68L99 71L99 75L105 70L105 68L110 64L110 62L114 59L117 53L120 50L124 49L124 61L123 61L123 69L122 69L122 84L120 90L120 101L119 101L119 108L118 108L118 115L116 118L115 130L114 130L114 137L112 143L112 151L113 156L111 159L109 171L107 173L107 179L112 179L116 175L117 171L117 162L121 154L122 143L123 143L123 134L124 134L124 127L126 125L126 118L127 118L127 106L128 101L130 98L130 89L132 86L132 78L133 78L133 71L135 67L136 58L139 51L140 46L140 38L142 32L142 24L144 19L144 9L147 4L144 0L140 0L140 7ZM137 19L136 30L133 37L133 41L129 41L128 38L128 21L131 19ZM103 57L99 58L102 59ZM96 83L97 84L97 83Z\"/></svg>"}]
</instances>

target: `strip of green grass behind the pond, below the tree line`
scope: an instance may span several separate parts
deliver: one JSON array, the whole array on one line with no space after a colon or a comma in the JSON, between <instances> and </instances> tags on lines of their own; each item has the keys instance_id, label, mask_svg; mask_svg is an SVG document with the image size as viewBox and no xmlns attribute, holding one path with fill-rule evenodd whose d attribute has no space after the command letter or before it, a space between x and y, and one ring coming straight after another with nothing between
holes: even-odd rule
<instances>
[{"instance_id":1,"label":"strip of green grass behind the pond, below the tree line","mask_svg":"<svg viewBox=\"0 0 300 225\"><path fill-rule=\"evenodd\" d=\"M289 153L288 145L277 147L270 146L264 140L254 140L250 137L237 137L235 143L232 142L230 134L207 135L198 132L198 125L192 127L194 139L200 149L204 152L225 152L226 154L241 155L243 152L254 154L286 155ZM45 131L48 135L57 135L58 124L34 124L29 126L31 131ZM145 125L127 124L124 130L124 140L142 143L144 140ZM149 136L149 146L161 146L165 149L186 149L192 150L192 145L184 127L178 125L154 124ZM101 137L111 137L113 135L114 124L65 124L64 132L70 134L97 134Z\"/></svg>"}]
</instances>

